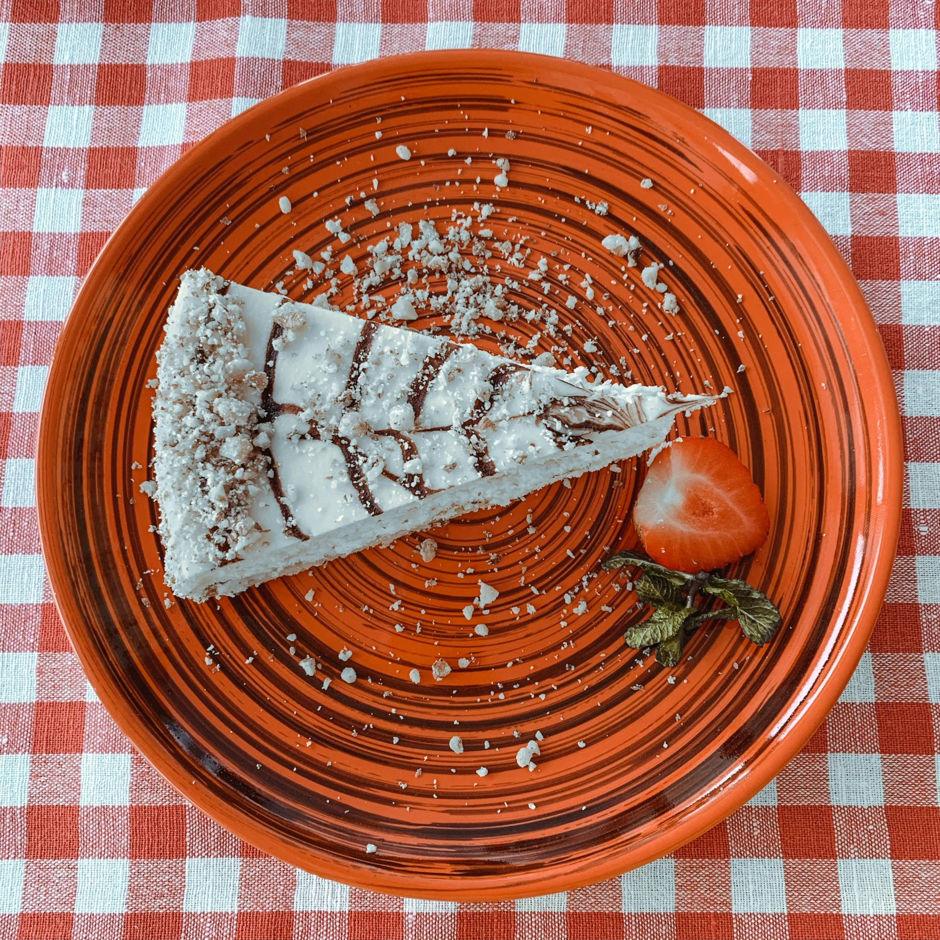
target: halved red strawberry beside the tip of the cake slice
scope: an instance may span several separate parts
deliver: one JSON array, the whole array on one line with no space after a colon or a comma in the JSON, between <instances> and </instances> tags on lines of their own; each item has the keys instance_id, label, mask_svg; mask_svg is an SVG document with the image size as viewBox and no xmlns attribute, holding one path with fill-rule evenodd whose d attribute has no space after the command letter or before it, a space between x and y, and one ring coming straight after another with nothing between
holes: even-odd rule
<instances>
[{"instance_id":1,"label":"halved red strawberry beside the tip of the cake slice","mask_svg":"<svg viewBox=\"0 0 940 940\"><path fill-rule=\"evenodd\" d=\"M686 437L653 460L634 505L653 561L681 572L723 568L767 538L770 517L750 471L712 437Z\"/></svg>"}]
</instances>

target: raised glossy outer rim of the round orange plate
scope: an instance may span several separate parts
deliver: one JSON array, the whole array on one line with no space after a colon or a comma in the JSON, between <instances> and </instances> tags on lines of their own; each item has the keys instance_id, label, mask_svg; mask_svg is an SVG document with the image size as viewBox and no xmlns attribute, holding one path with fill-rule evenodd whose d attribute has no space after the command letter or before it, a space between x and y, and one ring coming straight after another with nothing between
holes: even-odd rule
<instances>
[{"instance_id":1,"label":"raised glossy outer rim of the round orange plate","mask_svg":"<svg viewBox=\"0 0 940 940\"><path fill-rule=\"evenodd\" d=\"M857 613L854 619L842 628L845 639L840 646L838 659L823 663L821 675L816 680L817 687L793 710L787 720L785 732L765 744L760 755L749 761L744 772L738 773L726 787L713 793L708 799L699 800L673 825L666 830L655 832L649 838L632 846L627 852L608 852L603 859L603 864L592 865L589 870L584 870L583 867L573 869L569 867L554 870L541 878L536 878L531 874L525 875L521 881L514 880L511 883L504 877L495 878L492 875L473 880L446 875L399 874L385 868L370 867L365 860L353 864L341 863L335 858L319 855L311 857L310 854L303 854L293 843L278 838L267 826L258 823L250 815L229 807L210 788L196 781L193 781L195 786L188 783L189 777L184 772L183 765L174 760L171 752L164 749L160 741L151 733L149 725L139 720L137 715L127 708L126 700L120 695L118 686L110 681L110 674L99 669L94 650L90 645L82 642L83 634L78 626L81 623L80 612L77 609L70 609L70 598L66 596L66 592L56 589L56 586L61 588L67 582L61 572L64 559L56 556L53 547L55 543L53 533L57 529L59 518L56 511L55 486L52 475L43 470L54 459L56 450L55 401L63 391L60 386L64 385L64 370L56 367L70 347L72 337L77 336L84 328L83 318L76 314L93 303L96 282L102 277L102 271L107 265L109 249L121 237L122 230L128 227L130 220L147 211L149 204L159 199L161 193L185 173L186 166L191 161L197 160L201 154L217 147L228 136L241 133L244 128L250 127L269 109L276 108L284 102L302 99L314 83L318 83L320 87L333 84L342 86L353 72L359 80L366 80L369 77L377 80L388 71L406 70L412 63L419 64L425 69L437 65L439 69L446 71L454 71L462 66L472 66L478 69L485 66L488 61L492 61L495 56L499 57L503 66L506 65L508 59L510 62L513 59L519 61L523 66L521 71L528 71L533 63L540 62L543 71L573 73L573 76L578 79L603 82L608 87L619 86L621 92L629 94L634 100L645 99L647 107L651 104L652 107L658 106L671 112L670 117L678 119L690 132L695 133L697 140L711 138L720 141L721 149L733 155L736 161L743 164L753 175L754 180L749 183L751 186L762 188L773 179L778 187L789 194L785 198L790 199L794 214L802 217L801 221L810 233L815 233L821 261L825 264L828 275L831 276L831 280L827 276L827 281L833 288L833 292L838 294L838 305L836 305L838 313L842 315L849 313L853 317L851 325L854 330L845 331L851 350L848 358L854 368L857 384L861 385L867 380L871 383L868 386L872 394L867 397L869 407L864 415L865 425L873 445L872 454L877 454L880 461L870 463L869 469L874 471L880 468L884 481L883 498L880 504L875 505L874 495L870 496L871 530L879 532L880 539L870 540L866 545L866 554L871 558L870 579L866 585L856 587L856 591L859 592L858 596L861 598L857 604ZM850 333L851 336L848 335ZM859 359L863 356L864 361L860 368ZM180 791L185 799L206 812L216 823L237 837L243 838L262 851L291 865L312 871L321 877L346 885L399 896L448 901L501 901L527 897L534 892L568 891L595 884L673 852L743 806L783 769L806 744L836 704L868 644L875 619L885 599L887 583L896 555L901 527L903 473L901 416L891 369L877 325L845 259L838 253L835 244L816 217L790 186L775 176L772 167L760 160L760 157L752 150L745 148L744 144L732 137L720 125L694 108L634 79L570 59L503 50L472 49L384 56L357 65L344 66L286 88L227 120L221 127L187 150L149 186L147 192L138 199L128 215L103 244L98 257L86 274L81 290L72 302L69 316L64 321L57 337L39 415L36 489L39 539L45 568L49 574L59 616L85 670L88 682L118 727L131 740L134 748L161 776L164 776L174 789ZM447 882L453 886L446 886ZM516 887L513 888L511 885L516 885ZM520 888L524 890L521 892Z\"/></svg>"}]
</instances>

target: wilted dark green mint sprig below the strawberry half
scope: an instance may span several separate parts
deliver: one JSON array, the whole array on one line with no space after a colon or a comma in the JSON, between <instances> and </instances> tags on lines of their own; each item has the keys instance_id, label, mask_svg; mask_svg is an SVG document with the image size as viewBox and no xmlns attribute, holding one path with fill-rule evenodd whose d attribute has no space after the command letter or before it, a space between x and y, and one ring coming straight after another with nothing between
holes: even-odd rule
<instances>
[{"instance_id":1,"label":"wilted dark green mint sprig below the strawberry half","mask_svg":"<svg viewBox=\"0 0 940 940\"><path fill-rule=\"evenodd\" d=\"M630 627L623 639L637 650L655 646L660 666L678 666L686 639L707 620L737 620L742 633L758 646L774 635L780 623L776 604L746 581L723 578L715 572L674 572L638 552L618 552L601 567L611 572L625 565L641 570L634 590L652 613L649 619ZM703 611L695 604L702 593L728 606Z\"/></svg>"}]
</instances>

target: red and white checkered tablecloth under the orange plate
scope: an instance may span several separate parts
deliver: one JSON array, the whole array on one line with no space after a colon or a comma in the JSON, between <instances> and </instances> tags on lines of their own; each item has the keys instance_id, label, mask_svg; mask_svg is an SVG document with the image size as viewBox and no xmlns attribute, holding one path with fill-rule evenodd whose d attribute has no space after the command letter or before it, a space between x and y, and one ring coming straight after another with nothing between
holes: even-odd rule
<instances>
[{"instance_id":1,"label":"red and white checkered tablecloth under the orange plate","mask_svg":"<svg viewBox=\"0 0 940 940\"><path fill-rule=\"evenodd\" d=\"M0 0L0 940L940 938L937 38L932 0ZM638 78L775 165L865 290L908 461L869 651L776 781L646 868L492 905L321 881L172 791L87 686L33 488L55 337L136 196L283 87L470 45Z\"/></svg>"}]
</instances>

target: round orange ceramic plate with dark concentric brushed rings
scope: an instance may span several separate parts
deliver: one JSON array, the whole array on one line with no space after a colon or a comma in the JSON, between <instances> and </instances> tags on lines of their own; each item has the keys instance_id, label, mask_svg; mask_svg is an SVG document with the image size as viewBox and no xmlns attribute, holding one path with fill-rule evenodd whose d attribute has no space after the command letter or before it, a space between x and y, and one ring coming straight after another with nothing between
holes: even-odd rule
<instances>
[{"instance_id":1,"label":"round orange ceramic plate with dark concentric brushed rings","mask_svg":"<svg viewBox=\"0 0 940 940\"><path fill-rule=\"evenodd\" d=\"M511 164L501 192L497 157ZM571 264L567 286L550 270L550 297L571 327L559 356L572 366L607 375L615 364L670 390L733 388L679 432L727 442L770 509L769 539L735 572L783 613L764 649L715 624L667 672L624 646L635 598L619 575L595 575L632 543L642 462L446 525L430 564L416 551L428 533L418 533L221 603L164 606L156 512L138 486L152 456L148 382L178 275L204 264L308 299L318 289L289 273L291 250L316 257L335 244L327 219L352 232L341 254L363 258L389 224L449 219L475 202L496 207L496 234L525 235L533 257L557 252ZM605 213L594 211L601 203ZM639 269L622 271L601 248L612 232L637 233L644 258L670 265L679 315L643 306L653 298ZM538 305L540 285L526 284L523 302ZM525 343L537 326L506 329ZM588 338L596 352L584 352ZM538 349L553 342L543 335ZM783 180L666 95L504 52L336 71L190 150L88 274L55 353L39 441L56 601L134 744L267 852L353 885L450 900L595 882L741 806L852 675L885 595L900 510L899 418L878 334ZM485 638L462 615L481 576L500 591ZM338 679L344 646L353 685ZM327 690L298 668L305 654L324 664ZM433 682L439 657L454 671ZM459 668L460 657L471 665ZM414 666L420 685L408 678ZM537 731L538 767L520 769L516 752ZM447 746L455 733L461 755Z\"/></svg>"}]
</instances>

